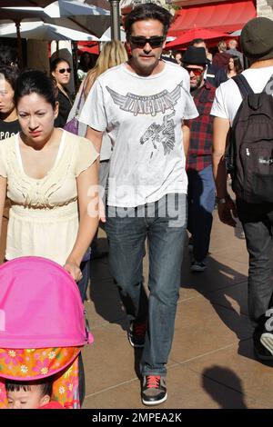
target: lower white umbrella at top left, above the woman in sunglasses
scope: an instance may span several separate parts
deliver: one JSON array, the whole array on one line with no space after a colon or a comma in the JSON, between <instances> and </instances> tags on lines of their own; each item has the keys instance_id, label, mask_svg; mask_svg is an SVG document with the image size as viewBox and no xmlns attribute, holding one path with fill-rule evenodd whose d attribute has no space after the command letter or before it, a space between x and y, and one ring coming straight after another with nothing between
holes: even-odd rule
<instances>
[{"instance_id":1,"label":"lower white umbrella at top left, above the woman in sunglasses","mask_svg":"<svg viewBox=\"0 0 273 427\"><path fill-rule=\"evenodd\" d=\"M63 26L47 24L42 21L36 22L21 22L20 35L22 38L35 40L83 40L97 41L95 35L87 35L86 33L71 30ZM0 25L0 37L16 38L15 24Z\"/></svg>"}]
</instances>

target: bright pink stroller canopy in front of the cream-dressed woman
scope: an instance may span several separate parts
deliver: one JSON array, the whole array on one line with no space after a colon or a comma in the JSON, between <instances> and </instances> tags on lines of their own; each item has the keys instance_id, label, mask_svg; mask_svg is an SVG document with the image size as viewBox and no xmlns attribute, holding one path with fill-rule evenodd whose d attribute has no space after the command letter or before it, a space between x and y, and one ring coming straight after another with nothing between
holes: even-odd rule
<instances>
[{"instance_id":1,"label":"bright pink stroller canopy in front of the cream-dressed woman","mask_svg":"<svg viewBox=\"0 0 273 427\"><path fill-rule=\"evenodd\" d=\"M27 256L0 266L0 347L73 347L92 342L73 278L57 263Z\"/></svg>"}]
</instances>

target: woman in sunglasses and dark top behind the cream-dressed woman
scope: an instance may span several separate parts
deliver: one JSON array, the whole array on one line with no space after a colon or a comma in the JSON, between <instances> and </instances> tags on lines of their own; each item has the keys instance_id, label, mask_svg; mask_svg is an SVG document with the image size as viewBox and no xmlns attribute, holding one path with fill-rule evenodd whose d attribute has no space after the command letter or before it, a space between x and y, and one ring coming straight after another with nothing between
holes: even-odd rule
<instances>
[{"instance_id":1,"label":"woman in sunglasses and dark top behind the cream-dressed woman","mask_svg":"<svg viewBox=\"0 0 273 427\"><path fill-rule=\"evenodd\" d=\"M53 79L56 81L58 90L57 102L59 103L59 114L55 121L56 127L64 127L68 114L72 107L70 94L66 88L71 75L71 67L66 59L56 58L50 64L50 72Z\"/></svg>"}]
</instances>

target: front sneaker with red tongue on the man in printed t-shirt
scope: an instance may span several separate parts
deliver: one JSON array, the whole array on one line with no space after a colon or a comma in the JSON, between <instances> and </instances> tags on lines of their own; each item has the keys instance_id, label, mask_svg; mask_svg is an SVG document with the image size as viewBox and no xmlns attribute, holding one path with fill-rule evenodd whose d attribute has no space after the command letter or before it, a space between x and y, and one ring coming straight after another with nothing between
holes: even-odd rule
<instances>
[{"instance_id":1,"label":"front sneaker with red tongue on the man in printed t-shirt","mask_svg":"<svg viewBox=\"0 0 273 427\"><path fill-rule=\"evenodd\" d=\"M142 402L145 405L158 405L167 400L166 377L161 375L145 375L143 377Z\"/></svg>"}]
</instances>

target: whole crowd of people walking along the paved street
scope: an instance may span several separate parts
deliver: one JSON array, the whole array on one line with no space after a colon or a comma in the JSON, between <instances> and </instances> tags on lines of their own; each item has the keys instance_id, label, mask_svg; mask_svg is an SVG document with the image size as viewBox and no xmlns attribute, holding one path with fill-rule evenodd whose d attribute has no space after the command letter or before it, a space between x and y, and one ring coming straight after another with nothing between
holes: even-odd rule
<instances>
[{"instance_id":1,"label":"whole crowd of people walking along the paved street","mask_svg":"<svg viewBox=\"0 0 273 427\"><path fill-rule=\"evenodd\" d=\"M190 270L202 273L216 203L223 223L235 226L233 214L243 224L254 348L258 358L273 360L273 334L266 327L273 200L249 204L237 194L235 204L227 193L225 161L227 134L242 101L235 76L242 74L255 93L268 83L273 22L255 18L243 28L240 45L250 65L243 71L247 62L236 40L228 46L221 41L212 57L206 41L195 39L183 55L174 55L176 64L162 59L171 20L156 4L136 6L125 20L129 57L121 42L112 41L96 65L85 60L74 104L66 89L71 66L63 58L52 61L50 76L36 70L19 74L15 60L0 68L5 262L24 255L56 261L76 280L84 301L89 248L103 224L128 341L143 349L145 405L167 400L187 231ZM32 392L33 385L8 385L7 391L15 407L13 394ZM36 392L36 407L50 402L50 392Z\"/></svg>"}]
</instances>

